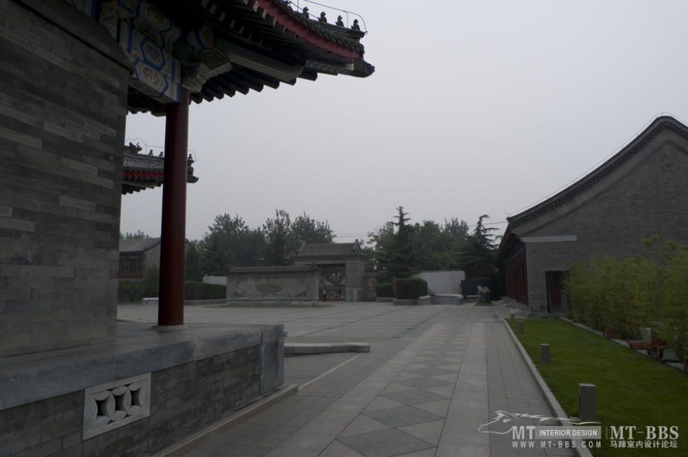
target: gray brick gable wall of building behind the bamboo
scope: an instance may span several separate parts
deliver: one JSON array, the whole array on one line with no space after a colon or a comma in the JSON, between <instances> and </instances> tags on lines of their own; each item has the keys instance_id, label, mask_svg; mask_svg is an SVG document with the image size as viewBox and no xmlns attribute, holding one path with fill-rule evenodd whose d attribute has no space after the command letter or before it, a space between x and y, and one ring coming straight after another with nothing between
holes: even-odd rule
<instances>
[{"instance_id":1,"label":"gray brick gable wall of building behind the bamboo","mask_svg":"<svg viewBox=\"0 0 688 457\"><path fill-rule=\"evenodd\" d=\"M671 170L665 160L676 162ZM664 129L638 154L598 184L596 198L554 222L517 226L522 236L576 235L575 242L527 243L528 293L532 311L546 310L546 271L565 271L597 254L643 253L641 240L658 234L688 244L688 139Z\"/></svg>"}]
</instances>

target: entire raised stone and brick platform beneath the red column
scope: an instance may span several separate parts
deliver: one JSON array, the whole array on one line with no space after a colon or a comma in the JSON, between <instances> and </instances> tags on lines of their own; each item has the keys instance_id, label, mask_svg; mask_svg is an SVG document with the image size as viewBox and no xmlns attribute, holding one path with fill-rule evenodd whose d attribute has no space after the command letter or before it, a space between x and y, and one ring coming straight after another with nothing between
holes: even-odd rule
<instances>
[{"instance_id":1,"label":"entire raised stone and brick platform beneath the red column","mask_svg":"<svg viewBox=\"0 0 688 457\"><path fill-rule=\"evenodd\" d=\"M115 343L0 359L0 456L153 454L283 384L281 325L117 330Z\"/></svg>"}]
</instances>

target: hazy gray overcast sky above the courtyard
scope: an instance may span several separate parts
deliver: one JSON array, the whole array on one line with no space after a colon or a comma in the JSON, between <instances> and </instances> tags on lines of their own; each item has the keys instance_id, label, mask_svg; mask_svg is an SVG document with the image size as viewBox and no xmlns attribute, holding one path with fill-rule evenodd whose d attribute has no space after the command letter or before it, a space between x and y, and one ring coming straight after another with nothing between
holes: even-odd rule
<instances>
[{"instance_id":1,"label":"hazy gray overcast sky above the courtyard","mask_svg":"<svg viewBox=\"0 0 688 457\"><path fill-rule=\"evenodd\" d=\"M411 222L504 221L657 114L688 120L685 0L325 3L361 14L376 72L192 103L190 240L215 215L256 227L275 209L327 220L339 242L397 206ZM160 151L164 118L129 114L130 140ZM161 188L124 195L121 231L159 236L161 205Z\"/></svg>"}]
</instances>

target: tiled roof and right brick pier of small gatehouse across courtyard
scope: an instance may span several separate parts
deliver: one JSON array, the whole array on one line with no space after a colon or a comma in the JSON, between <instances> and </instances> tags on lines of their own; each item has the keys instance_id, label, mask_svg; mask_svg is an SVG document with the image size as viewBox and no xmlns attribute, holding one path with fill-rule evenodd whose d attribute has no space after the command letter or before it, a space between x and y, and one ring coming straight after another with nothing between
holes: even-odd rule
<instances>
[{"instance_id":1,"label":"tiled roof and right brick pier of small gatehouse across courtyard","mask_svg":"<svg viewBox=\"0 0 688 457\"><path fill-rule=\"evenodd\" d=\"M363 273L368 255L361 250L361 244L353 243L316 243L303 242L299 251L289 257L294 265L315 264L321 268L343 266L345 268L347 301L363 299Z\"/></svg>"}]
</instances>

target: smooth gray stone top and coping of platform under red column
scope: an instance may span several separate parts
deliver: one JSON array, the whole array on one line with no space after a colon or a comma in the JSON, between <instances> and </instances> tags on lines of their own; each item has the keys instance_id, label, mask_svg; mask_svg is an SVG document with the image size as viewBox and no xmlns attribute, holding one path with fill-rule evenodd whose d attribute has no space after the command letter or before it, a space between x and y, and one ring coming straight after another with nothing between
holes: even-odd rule
<instances>
[{"instance_id":1,"label":"smooth gray stone top and coping of platform under red column","mask_svg":"<svg viewBox=\"0 0 688 457\"><path fill-rule=\"evenodd\" d=\"M0 410L283 341L283 325L117 323L117 341L0 359Z\"/></svg>"}]
</instances>

